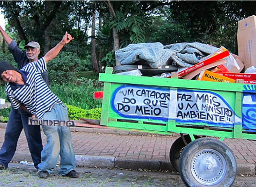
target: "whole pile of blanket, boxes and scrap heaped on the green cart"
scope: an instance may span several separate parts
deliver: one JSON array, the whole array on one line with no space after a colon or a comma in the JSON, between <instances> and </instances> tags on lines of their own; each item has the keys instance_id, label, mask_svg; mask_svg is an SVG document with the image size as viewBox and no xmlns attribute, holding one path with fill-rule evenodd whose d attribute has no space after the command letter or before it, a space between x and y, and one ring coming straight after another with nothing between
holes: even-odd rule
<instances>
[{"instance_id":1,"label":"whole pile of blanket, boxes and scrap heaped on the green cart","mask_svg":"<svg viewBox=\"0 0 256 187\"><path fill-rule=\"evenodd\" d=\"M238 22L238 53L199 42L130 44L116 51L113 74L256 84L256 16Z\"/></svg>"}]
</instances>

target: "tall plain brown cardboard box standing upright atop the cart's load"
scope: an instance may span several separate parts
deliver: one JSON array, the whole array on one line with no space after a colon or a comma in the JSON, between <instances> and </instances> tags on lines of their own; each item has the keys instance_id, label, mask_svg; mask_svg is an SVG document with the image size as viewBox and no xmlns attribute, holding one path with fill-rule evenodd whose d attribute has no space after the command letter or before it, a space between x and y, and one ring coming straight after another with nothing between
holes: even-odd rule
<instances>
[{"instance_id":1,"label":"tall plain brown cardboard box standing upright atop the cart's load","mask_svg":"<svg viewBox=\"0 0 256 187\"><path fill-rule=\"evenodd\" d=\"M238 22L237 44L239 59L244 69L256 66L256 16Z\"/></svg>"}]
</instances>

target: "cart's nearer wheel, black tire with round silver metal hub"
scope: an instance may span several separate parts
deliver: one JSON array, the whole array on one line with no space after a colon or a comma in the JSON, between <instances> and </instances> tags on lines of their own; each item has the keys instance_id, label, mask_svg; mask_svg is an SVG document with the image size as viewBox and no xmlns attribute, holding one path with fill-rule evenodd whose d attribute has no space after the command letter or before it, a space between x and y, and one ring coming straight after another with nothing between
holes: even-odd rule
<instances>
[{"instance_id":1,"label":"cart's nearer wheel, black tire with round silver metal hub","mask_svg":"<svg viewBox=\"0 0 256 187\"><path fill-rule=\"evenodd\" d=\"M223 142L196 139L182 151L179 171L187 187L230 187L236 178L236 159Z\"/></svg>"}]
</instances>

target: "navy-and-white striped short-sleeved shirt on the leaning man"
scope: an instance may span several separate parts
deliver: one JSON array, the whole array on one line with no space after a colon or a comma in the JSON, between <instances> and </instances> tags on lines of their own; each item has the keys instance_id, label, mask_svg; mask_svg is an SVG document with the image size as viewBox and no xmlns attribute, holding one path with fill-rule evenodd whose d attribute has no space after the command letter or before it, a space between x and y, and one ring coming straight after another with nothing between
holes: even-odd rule
<instances>
[{"instance_id":1,"label":"navy-and-white striped short-sleeved shirt on the leaning man","mask_svg":"<svg viewBox=\"0 0 256 187\"><path fill-rule=\"evenodd\" d=\"M51 111L53 105L61 103L42 78L41 74L45 71L47 71L46 62L41 58L18 70L24 85L7 82L6 93L13 108L18 109L23 104L30 113L35 114L38 119L43 119L44 113Z\"/></svg>"}]
</instances>

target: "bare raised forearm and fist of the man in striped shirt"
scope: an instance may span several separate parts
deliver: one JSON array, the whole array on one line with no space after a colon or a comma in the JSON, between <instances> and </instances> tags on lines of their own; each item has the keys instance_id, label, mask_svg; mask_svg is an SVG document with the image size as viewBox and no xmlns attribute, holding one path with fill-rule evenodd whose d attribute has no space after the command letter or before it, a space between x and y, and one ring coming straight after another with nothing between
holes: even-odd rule
<instances>
[{"instance_id":1,"label":"bare raised forearm and fist of the man in striped shirt","mask_svg":"<svg viewBox=\"0 0 256 187\"><path fill-rule=\"evenodd\" d=\"M64 47L64 45L69 43L73 39L74 38L66 32L62 40L57 45L55 45L54 48L48 51L47 54L44 55L45 62L47 63L50 60L54 59L58 55L58 53L61 51L61 49Z\"/></svg>"}]
</instances>

